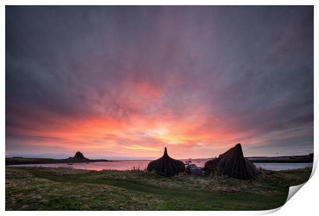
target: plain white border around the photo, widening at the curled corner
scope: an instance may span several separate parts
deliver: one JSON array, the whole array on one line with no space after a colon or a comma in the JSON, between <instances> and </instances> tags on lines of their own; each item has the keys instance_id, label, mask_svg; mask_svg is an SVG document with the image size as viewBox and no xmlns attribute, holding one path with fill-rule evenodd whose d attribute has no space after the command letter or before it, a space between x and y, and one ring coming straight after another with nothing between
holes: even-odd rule
<instances>
[{"instance_id":1,"label":"plain white border around the photo, widening at the curled corner","mask_svg":"<svg viewBox=\"0 0 319 216\"><path fill-rule=\"evenodd\" d=\"M5 210L5 5L314 5L314 71L316 71L316 63L318 62L317 58L317 50L318 50L318 44L317 44L317 38L318 38L318 8L315 4L317 1L207 1L207 0L197 0L197 1L168 1L168 0L162 0L162 1L145 1L145 0L136 0L136 1L129 1L129 0L121 0L121 1L101 1L101 0L91 0L91 1L84 1L84 0L78 0L78 1L68 1L68 0L47 0L47 1L40 1L40 0L29 0L29 1L22 1L22 0L11 0L11 1L2 1L3 6L1 8L1 62L2 62L2 73L1 73L1 101L2 106L0 106L1 109L1 137L3 140L2 142L2 152L3 152L3 159L2 159L2 167L1 167L1 183L2 183L2 197L1 197L1 208L4 211ZM314 110L318 110L318 75L314 73ZM317 133L318 130L318 115L315 112L314 113L314 143L318 143L318 136ZM267 211L181 211L181 212L174 212L174 211L166 211L166 214L173 215L176 213L181 213L184 216L190 216L192 214L203 214L203 215L211 215L218 214L218 215L262 215L262 214L269 214L274 213L274 215L313 215L313 212L316 212L317 210L317 197L318 197L318 185L319 182L319 176L317 173L315 173L315 169L318 163L318 145L314 145L314 163L313 163L313 171L312 171L312 177L311 179L297 192L297 195L292 196L292 198L282 207ZM280 209L280 210L279 210ZM279 211L277 211L279 210ZM41 215L44 212L42 211L6 211L5 214L7 215L15 215L15 214L24 214L24 215ZM56 215L56 214L70 214L73 212L70 211L46 211L46 214L50 215ZM79 215L86 215L89 212L87 211L79 211L76 212L76 214ZM93 212L92 212L93 213ZM150 213L154 216L160 215L163 212L161 211L95 211L94 214L96 215L105 215L105 213L110 215L128 215L131 216L134 215L149 215Z\"/></svg>"}]
</instances>

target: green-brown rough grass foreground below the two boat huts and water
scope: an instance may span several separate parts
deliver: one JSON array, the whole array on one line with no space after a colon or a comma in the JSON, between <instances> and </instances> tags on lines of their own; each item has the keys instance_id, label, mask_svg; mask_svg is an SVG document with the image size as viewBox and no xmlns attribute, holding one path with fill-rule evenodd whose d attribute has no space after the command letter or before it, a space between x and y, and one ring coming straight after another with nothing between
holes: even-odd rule
<instances>
[{"instance_id":1,"label":"green-brown rough grass foreground below the two boat huts and water","mask_svg":"<svg viewBox=\"0 0 319 216\"><path fill-rule=\"evenodd\" d=\"M6 167L6 210L268 210L312 167L226 176L163 177L147 171Z\"/></svg>"}]
</instances>

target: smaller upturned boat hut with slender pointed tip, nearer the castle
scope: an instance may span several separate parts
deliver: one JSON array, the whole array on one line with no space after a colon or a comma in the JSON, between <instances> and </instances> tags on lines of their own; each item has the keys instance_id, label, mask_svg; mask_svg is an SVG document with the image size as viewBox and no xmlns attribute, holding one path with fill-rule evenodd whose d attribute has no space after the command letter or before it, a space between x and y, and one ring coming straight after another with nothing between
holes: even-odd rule
<instances>
[{"instance_id":1,"label":"smaller upturned boat hut with slender pointed tip, nearer the castle","mask_svg":"<svg viewBox=\"0 0 319 216\"><path fill-rule=\"evenodd\" d=\"M185 165L183 161L176 160L168 156L167 149L165 147L164 155L157 160L151 161L147 166L148 171L155 170L156 173L164 175L165 177L176 175L185 171Z\"/></svg>"}]
</instances>

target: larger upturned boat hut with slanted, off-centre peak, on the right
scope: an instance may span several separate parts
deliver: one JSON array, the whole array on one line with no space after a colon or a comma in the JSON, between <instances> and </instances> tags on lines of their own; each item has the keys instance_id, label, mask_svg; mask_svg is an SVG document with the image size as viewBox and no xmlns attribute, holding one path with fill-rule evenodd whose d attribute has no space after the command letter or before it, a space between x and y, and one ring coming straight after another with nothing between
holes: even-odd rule
<instances>
[{"instance_id":1,"label":"larger upturned boat hut with slanted, off-centre peak, on the right","mask_svg":"<svg viewBox=\"0 0 319 216\"><path fill-rule=\"evenodd\" d=\"M227 175L241 180L250 179L256 174L255 165L244 157L240 143L218 158L208 160L204 168L208 173Z\"/></svg>"}]
</instances>

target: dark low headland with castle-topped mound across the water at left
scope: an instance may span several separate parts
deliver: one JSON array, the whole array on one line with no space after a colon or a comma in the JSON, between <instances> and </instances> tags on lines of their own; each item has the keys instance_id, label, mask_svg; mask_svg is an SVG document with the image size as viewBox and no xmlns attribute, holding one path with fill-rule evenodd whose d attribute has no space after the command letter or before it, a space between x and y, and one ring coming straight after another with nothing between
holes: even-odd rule
<instances>
[{"instance_id":1,"label":"dark low headland with castle-topped mound across the water at left","mask_svg":"<svg viewBox=\"0 0 319 216\"><path fill-rule=\"evenodd\" d=\"M54 159L54 158L31 158L31 157L6 157L6 166L9 165L22 165L22 164L63 164L63 163L94 163L94 162L107 162L112 160L106 159L88 159L83 156L83 153L76 152L74 157L66 159Z\"/></svg>"}]
</instances>

